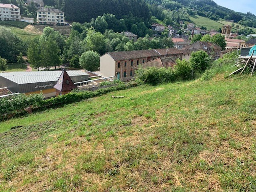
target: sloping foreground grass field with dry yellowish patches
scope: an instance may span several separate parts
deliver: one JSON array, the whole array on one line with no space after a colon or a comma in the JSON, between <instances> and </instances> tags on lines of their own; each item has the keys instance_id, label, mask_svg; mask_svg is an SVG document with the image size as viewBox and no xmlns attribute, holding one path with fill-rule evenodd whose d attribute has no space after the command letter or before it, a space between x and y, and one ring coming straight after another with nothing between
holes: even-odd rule
<instances>
[{"instance_id":1,"label":"sloping foreground grass field with dry yellowish patches","mask_svg":"<svg viewBox=\"0 0 256 192\"><path fill-rule=\"evenodd\" d=\"M256 77L232 70L1 122L0 191L256 191Z\"/></svg>"}]
</instances>

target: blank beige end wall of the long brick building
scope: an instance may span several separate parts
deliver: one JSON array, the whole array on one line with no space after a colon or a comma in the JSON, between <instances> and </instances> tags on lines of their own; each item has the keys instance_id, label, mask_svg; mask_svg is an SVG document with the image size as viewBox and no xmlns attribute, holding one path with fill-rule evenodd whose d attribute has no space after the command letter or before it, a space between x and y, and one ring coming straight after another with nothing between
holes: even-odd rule
<instances>
[{"instance_id":1,"label":"blank beige end wall of the long brick building","mask_svg":"<svg viewBox=\"0 0 256 192\"><path fill-rule=\"evenodd\" d=\"M115 60L109 54L100 57L100 73L103 77L116 76L115 67Z\"/></svg>"}]
</instances>

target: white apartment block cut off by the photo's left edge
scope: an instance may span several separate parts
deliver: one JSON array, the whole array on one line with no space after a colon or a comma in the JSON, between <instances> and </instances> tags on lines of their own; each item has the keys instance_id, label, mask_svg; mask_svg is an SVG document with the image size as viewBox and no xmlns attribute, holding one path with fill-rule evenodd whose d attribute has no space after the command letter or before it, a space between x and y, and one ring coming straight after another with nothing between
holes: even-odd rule
<instances>
[{"instance_id":1,"label":"white apartment block cut off by the photo's left edge","mask_svg":"<svg viewBox=\"0 0 256 192\"><path fill-rule=\"evenodd\" d=\"M0 3L0 21L20 20L20 8L14 4L4 4Z\"/></svg>"}]
</instances>

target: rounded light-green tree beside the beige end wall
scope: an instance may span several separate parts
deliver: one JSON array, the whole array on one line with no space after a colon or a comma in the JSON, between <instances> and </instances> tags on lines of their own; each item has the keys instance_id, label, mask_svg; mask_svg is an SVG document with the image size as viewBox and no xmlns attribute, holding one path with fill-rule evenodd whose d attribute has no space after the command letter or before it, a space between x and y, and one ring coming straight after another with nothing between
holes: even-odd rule
<instances>
[{"instance_id":1,"label":"rounded light-green tree beside the beige end wall","mask_svg":"<svg viewBox=\"0 0 256 192\"><path fill-rule=\"evenodd\" d=\"M88 71L96 71L100 67L100 54L95 51L86 51L80 56L79 64Z\"/></svg>"}]
</instances>

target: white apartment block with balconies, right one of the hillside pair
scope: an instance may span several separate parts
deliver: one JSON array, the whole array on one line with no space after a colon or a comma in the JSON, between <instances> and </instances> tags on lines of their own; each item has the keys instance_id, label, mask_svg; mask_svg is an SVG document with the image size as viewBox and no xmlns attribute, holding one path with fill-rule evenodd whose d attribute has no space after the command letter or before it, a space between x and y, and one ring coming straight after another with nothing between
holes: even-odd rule
<instances>
[{"instance_id":1,"label":"white apartment block with balconies, right one of the hillside pair","mask_svg":"<svg viewBox=\"0 0 256 192\"><path fill-rule=\"evenodd\" d=\"M36 11L37 21L39 24L64 26L64 12L54 8L42 7Z\"/></svg>"}]
</instances>

